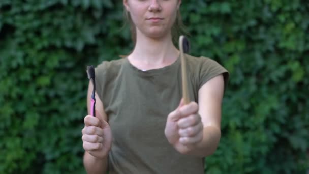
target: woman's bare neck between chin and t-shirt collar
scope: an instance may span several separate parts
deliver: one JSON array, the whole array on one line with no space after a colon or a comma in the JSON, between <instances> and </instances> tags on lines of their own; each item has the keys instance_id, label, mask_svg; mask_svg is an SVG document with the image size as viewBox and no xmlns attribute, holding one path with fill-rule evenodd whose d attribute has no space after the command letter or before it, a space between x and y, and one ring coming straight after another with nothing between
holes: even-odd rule
<instances>
[{"instance_id":1,"label":"woman's bare neck between chin and t-shirt collar","mask_svg":"<svg viewBox=\"0 0 309 174\"><path fill-rule=\"evenodd\" d=\"M150 38L137 31L136 45L128 59L137 68L154 69L172 64L178 55L179 51L170 34L162 38Z\"/></svg>"}]
</instances>

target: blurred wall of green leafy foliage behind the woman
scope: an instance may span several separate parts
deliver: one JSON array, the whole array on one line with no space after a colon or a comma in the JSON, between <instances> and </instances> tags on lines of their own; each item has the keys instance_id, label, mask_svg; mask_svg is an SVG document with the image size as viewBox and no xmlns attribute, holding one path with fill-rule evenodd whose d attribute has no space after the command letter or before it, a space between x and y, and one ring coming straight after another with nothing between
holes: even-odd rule
<instances>
[{"instance_id":1,"label":"blurred wall of green leafy foliage behind the woman","mask_svg":"<svg viewBox=\"0 0 309 174\"><path fill-rule=\"evenodd\" d=\"M84 173L85 67L132 49L122 1L0 1L0 173ZM309 168L309 3L183 1L191 54L231 73L207 173Z\"/></svg>"}]
</instances>

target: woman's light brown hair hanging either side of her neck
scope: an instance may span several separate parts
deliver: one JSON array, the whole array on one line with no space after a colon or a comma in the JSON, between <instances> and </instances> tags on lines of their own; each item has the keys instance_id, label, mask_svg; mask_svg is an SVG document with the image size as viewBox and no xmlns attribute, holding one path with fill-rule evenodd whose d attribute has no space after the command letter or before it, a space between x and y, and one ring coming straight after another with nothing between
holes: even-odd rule
<instances>
[{"instance_id":1,"label":"woman's light brown hair hanging either side of her neck","mask_svg":"<svg viewBox=\"0 0 309 174\"><path fill-rule=\"evenodd\" d=\"M134 22L132 21L130 12L128 12L126 10L126 8L123 9L123 16L125 17L125 22L130 24L131 38L132 38L133 44L135 45L136 44L136 26L135 26ZM180 15L179 10L177 11L177 16L176 16L175 22L174 22L171 30L172 30L171 34L172 34L173 43L177 47L179 36L180 35L188 35L188 32L186 31L186 28L184 27L184 25L182 23L182 19L181 19L181 15Z\"/></svg>"}]
</instances>

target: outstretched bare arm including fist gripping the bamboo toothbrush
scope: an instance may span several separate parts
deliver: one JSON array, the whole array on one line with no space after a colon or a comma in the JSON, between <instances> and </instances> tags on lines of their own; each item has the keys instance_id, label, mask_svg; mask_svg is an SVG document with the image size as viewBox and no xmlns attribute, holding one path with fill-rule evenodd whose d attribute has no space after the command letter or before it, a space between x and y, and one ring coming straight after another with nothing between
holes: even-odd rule
<instances>
[{"instance_id":1,"label":"outstretched bare arm including fist gripping the bamboo toothbrush","mask_svg":"<svg viewBox=\"0 0 309 174\"><path fill-rule=\"evenodd\" d=\"M214 153L221 137L223 75L206 82L199 90L199 104L184 104L168 115L165 136L182 153L205 157Z\"/></svg>"}]
</instances>

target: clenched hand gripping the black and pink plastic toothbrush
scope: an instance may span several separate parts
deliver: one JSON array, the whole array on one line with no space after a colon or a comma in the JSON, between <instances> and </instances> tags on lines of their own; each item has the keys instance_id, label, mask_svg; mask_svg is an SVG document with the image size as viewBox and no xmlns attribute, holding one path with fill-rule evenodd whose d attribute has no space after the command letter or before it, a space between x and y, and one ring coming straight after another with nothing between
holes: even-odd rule
<instances>
[{"instance_id":1,"label":"clenched hand gripping the black and pink plastic toothbrush","mask_svg":"<svg viewBox=\"0 0 309 174\"><path fill-rule=\"evenodd\" d=\"M82 129L83 148L96 158L108 156L112 144L112 134L109 124L104 121L96 110L96 117L87 115Z\"/></svg>"}]
</instances>

